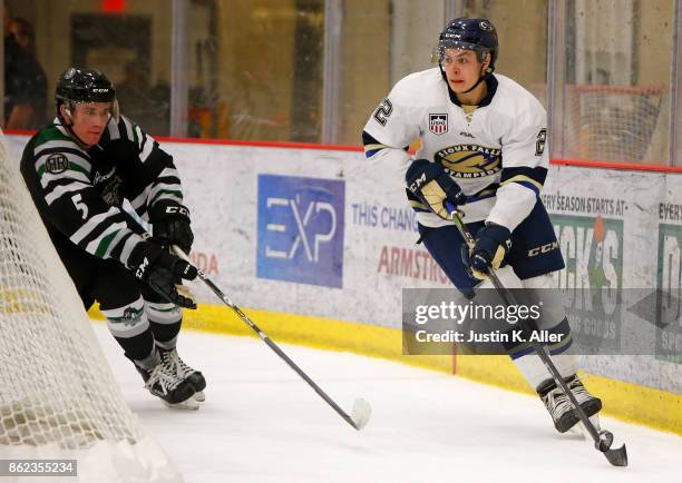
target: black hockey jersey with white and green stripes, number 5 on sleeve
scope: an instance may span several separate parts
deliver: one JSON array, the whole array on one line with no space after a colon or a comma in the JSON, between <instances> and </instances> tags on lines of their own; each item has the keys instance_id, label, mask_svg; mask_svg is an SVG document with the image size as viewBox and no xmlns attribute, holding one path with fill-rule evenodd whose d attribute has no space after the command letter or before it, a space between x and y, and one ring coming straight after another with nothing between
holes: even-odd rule
<instances>
[{"instance_id":1,"label":"black hockey jersey with white and green stripes, number 5 on sleeve","mask_svg":"<svg viewBox=\"0 0 682 483\"><path fill-rule=\"evenodd\" d=\"M125 266L144 229L121 209L124 199L144 220L162 199L183 201L170 155L124 116L109 119L87 150L55 119L23 149L21 174L52 240Z\"/></svg>"}]
</instances>

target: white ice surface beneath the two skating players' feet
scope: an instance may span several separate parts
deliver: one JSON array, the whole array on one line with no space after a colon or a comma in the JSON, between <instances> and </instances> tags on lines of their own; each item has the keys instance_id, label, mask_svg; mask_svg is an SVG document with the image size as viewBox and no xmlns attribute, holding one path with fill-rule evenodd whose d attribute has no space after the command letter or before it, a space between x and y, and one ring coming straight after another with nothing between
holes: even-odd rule
<instances>
[{"instance_id":1,"label":"white ice surface beneath the two skating players' feet","mask_svg":"<svg viewBox=\"0 0 682 483\"><path fill-rule=\"evenodd\" d=\"M206 402L166 408L143 388L103 324L98 338L124 395L188 483L655 482L682 481L682 437L603 417L630 466L611 466L591 443L559 435L530 396L345 353L281 344L350 412L351 428L262 341L183 332L181 356L203 371Z\"/></svg>"}]
</instances>

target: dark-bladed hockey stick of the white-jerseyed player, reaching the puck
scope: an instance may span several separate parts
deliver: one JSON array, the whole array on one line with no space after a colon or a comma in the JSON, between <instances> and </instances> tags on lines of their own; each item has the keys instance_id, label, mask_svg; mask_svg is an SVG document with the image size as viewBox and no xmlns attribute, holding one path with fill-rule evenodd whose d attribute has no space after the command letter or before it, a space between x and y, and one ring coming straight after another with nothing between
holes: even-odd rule
<instances>
[{"instance_id":1,"label":"dark-bladed hockey stick of the white-jerseyed player, reaching the puck","mask_svg":"<svg viewBox=\"0 0 682 483\"><path fill-rule=\"evenodd\" d=\"M446 201L446 208L450 213L452 221L455 221L459 234L464 238L469 249L474 249L474 247L476 246L476 240L474 239L471 233L469 231L469 228L465 224L461 213L450 201ZM501 282L497 277L497 274L491 267L488 267L486 275L488 275L490 282L493 282L493 285L495 286L497 293L505 302L505 304L518 305L514 295L501 284ZM524 329L532 329L532 327L528 327L527 323L523 318L520 321L520 326ZM627 466L627 451L625 448L625 444L615 450L611 448L611 445L613 444L613 434L605 430L596 430L592 421L590 421L590 417L587 417L587 415L578 404L575 394L573 394L573 392L564 381L564 377L562 377L561 373L554 365L554 362L549 356L549 351L547 349L547 347L537 342L533 342L530 345L535 349L535 352L537 352L537 355L539 356L540 361L543 362L554 381L562 387L562 391L564 391L564 394L568 396L568 400L571 400L571 404L573 404L573 407L575 407L575 411L581 422L585 425L585 428L592 436L592 440L594 441L594 446L598 451L604 453L604 456L606 456L606 460L608 460L608 463L611 463L612 465Z\"/></svg>"}]
</instances>

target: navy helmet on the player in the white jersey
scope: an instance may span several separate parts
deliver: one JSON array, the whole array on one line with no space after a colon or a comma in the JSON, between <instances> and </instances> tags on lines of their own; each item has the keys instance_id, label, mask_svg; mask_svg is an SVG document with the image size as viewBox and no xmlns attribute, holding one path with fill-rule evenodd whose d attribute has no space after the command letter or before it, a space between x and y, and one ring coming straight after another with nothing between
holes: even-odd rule
<instances>
[{"instance_id":1,"label":"navy helmet on the player in the white jersey","mask_svg":"<svg viewBox=\"0 0 682 483\"><path fill-rule=\"evenodd\" d=\"M495 70L495 61L499 46L497 31L488 19L458 18L451 20L438 38L438 63L442 61L448 48L474 50L483 62L485 53L490 52L490 71Z\"/></svg>"}]
</instances>

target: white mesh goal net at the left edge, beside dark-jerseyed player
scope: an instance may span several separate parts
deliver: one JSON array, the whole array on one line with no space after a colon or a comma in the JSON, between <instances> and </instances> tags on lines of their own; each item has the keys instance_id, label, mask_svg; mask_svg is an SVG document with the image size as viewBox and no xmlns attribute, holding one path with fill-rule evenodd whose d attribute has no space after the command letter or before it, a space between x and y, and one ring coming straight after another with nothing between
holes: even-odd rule
<instances>
[{"instance_id":1,"label":"white mesh goal net at the left edge, beside dark-jerseyed player","mask_svg":"<svg viewBox=\"0 0 682 483\"><path fill-rule=\"evenodd\" d=\"M77 460L69 482L181 481L126 405L0 138L0 460L9 459Z\"/></svg>"}]
</instances>

